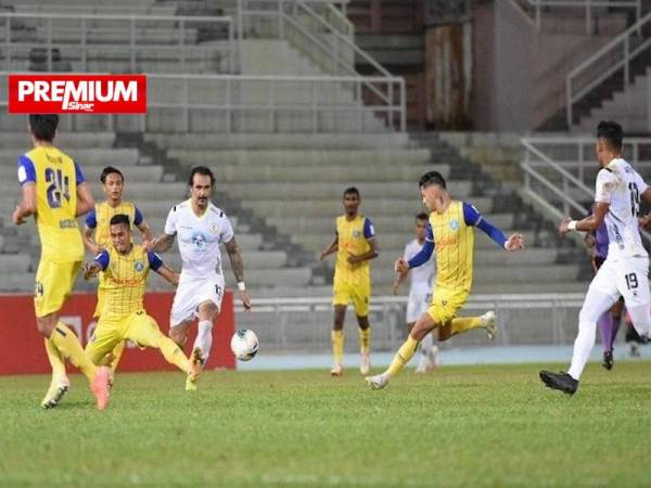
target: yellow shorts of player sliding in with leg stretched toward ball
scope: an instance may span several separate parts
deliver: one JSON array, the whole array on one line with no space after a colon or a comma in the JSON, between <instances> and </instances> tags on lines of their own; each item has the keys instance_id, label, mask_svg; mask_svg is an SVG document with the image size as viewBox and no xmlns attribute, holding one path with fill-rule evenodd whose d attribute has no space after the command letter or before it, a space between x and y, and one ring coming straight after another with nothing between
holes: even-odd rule
<instances>
[{"instance_id":1,"label":"yellow shorts of player sliding in with leg stretched toward ball","mask_svg":"<svg viewBox=\"0 0 651 488\"><path fill-rule=\"evenodd\" d=\"M94 364L99 364L122 341L133 341L141 347L158 347L162 337L164 335L158 324L144 310L122 317L102 316L86 346L86 355Z\"/></svg>"}]
</instances>

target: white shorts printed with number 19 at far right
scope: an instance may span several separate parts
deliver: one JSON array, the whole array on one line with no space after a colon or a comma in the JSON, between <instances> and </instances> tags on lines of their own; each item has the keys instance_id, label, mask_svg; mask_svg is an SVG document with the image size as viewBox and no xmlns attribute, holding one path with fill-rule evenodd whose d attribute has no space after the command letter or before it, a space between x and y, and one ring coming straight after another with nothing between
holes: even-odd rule
<instances>
[{"instance_id":1,"label":"white shorts printed with number 19 at far right","mask_svg":"<svg viewBox=\"0 0 651 488\"><path fill-rule=\"evenodd\" d=\"M649 258L607 259L592 279L590 288L611 296L614 301L622 296L629 308L649 306Z\"/></svg>"}]
</instances>

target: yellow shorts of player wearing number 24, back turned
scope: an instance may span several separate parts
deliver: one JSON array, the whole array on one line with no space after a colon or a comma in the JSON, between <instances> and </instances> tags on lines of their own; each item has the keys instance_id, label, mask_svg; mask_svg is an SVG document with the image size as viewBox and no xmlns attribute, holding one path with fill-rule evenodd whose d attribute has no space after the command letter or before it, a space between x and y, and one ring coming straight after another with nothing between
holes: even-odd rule
<instances>
[{"instance_id":1,"label":"yellow shorts of player wearing number 24, back turned","mask_svg":"<svg viewBox=\"0 0 651 488\"><path fill-rule=\"evenodd\" d=\"M34 287L36 317L46 317L63 308L65 300L73 293L80 267L81 261L39 261Z\"/></svg>"}]
</instances>

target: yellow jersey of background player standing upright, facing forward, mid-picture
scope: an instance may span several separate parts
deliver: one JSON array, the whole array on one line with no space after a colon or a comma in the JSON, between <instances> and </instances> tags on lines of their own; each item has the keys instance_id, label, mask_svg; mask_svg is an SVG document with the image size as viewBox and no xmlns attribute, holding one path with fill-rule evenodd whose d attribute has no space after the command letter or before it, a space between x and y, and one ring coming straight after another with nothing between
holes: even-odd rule
<instances>
[{"instance_id":1,"label":"yellow jersey of background player standing upright, facing forward, mid-picture","mask_svg":"<svg viewBox=\"0 0 651 488\"><path fill-rule=\"evenodd\" d=\"M336 235L339 251L334 267L335 284L369 285L371 281L371 267L368 260L350 265L350 254L358 256L371 251L369 239L375 236L375 231L370 219L358 215L348 220L345 215L336 218Z\"/></svg>"}]
</instances>

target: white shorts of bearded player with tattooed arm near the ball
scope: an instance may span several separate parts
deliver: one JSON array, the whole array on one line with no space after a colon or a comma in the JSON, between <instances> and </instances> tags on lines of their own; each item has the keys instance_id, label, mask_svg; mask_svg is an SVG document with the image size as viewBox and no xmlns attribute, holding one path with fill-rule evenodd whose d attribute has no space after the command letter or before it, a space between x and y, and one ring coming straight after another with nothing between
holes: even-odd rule
<instances>
[{"instance_id":1,"label":"white shorts of bearded player with tattooed arm near the ball","mask_svg":"<svg viewBox=\"0 0 651 488\"><path fill-rule=\"evenodd\" d=\"M213 274L212 277L200 279L183 279L177 287L171 304L169 314L169 326L180 325L181 322L193 320L199 312L199 305L204 301L212 301L221 310L221 299L224 298L224 277Z\"/></svg>"}]
</instances>

